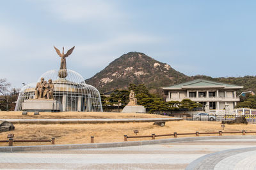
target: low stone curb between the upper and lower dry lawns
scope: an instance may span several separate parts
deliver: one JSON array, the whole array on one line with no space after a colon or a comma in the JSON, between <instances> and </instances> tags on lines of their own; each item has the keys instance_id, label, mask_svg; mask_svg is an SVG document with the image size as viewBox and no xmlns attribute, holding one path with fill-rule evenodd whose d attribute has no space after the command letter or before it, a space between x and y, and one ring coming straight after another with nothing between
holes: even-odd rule
<instances>
[{"instance_id":1,"label":"low stone curb between the upper and lower dry lawns","mask_svg":"<svg viewBox=\"0 0 256 170\"><path fill-rule=\"evenodd\" d=\"M179 121L182 118L65 118L65 119L1 119L12 124L104 124L129 122Z\"/></svg>"}]
</instances>

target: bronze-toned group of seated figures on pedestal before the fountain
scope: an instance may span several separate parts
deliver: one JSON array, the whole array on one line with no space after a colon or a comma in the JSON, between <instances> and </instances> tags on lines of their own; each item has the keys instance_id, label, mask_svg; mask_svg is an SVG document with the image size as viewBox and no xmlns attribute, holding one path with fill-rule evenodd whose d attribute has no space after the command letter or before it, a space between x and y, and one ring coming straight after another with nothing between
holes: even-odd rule
<instances>
[{"instance_id":1,"label":"bronze-toned group of seated figures on pedestal before the fountain","mask_svg":"<svg viewBox=\"0 0 256 170\"><path fill-rule=\"evenodd\" d=\"M36 83L35 99L54 99L53 89L54 85L51 79L47 83L44 78L41 78L41 81Z\"/></svg>"}]
</instances>

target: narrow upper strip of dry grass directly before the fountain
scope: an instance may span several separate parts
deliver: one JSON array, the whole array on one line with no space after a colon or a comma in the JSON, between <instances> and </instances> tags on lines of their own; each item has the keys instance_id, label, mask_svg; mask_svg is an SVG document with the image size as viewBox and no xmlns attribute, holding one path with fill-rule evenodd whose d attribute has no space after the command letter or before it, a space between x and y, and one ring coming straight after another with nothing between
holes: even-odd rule
<instances>
[{"instance_id":1,"label":"narrow upper strip of dry grass directly before the fountain","mask_svg":"<svg viewBox=\"0 0 256 170\"><path fill-rule=\"evenodd\" d=\"M0 111L1 118L164 118L166 116L147 113L111 113L111 112L40 112L40 115L34 115L34 112L28 112L28 115L22 115L22 111ZM170 117L167 117L170 118Z\"/></svg>"}]
</instances>

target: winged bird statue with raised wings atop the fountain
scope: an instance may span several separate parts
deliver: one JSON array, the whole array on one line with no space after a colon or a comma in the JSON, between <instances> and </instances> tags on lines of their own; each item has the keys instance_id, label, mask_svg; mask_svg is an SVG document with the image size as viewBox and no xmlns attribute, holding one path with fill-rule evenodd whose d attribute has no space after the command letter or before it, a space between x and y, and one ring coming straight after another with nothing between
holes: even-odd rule
<instances>
[{"instance_id":1,"label":"winged bird statue with raised wings atop the fountain","mask_svg":"<svg viewBox=\"0 0 256 170\"><path fill-rule=\"evenodd\" d=\"M58 55L61 57L60 71L59 71L59 73L58 73L58 76L59 76L60 78L65 78L65 77L67 77L67 63L66 63L66 57L68 57L68 55L70 55L70 54L73 52L75 46L73 46L73 47L72 47L70 50L68 50L68 52L65 53L65 54L64 54L64 47L62 48L62 49L63 49L63 50L62 50L62 53L60 53L60 50L59 50L58 48L56 48L55 46L54 46L54 48L55 48L56 52L58 53Z\"/></svg>"}]
</instances>

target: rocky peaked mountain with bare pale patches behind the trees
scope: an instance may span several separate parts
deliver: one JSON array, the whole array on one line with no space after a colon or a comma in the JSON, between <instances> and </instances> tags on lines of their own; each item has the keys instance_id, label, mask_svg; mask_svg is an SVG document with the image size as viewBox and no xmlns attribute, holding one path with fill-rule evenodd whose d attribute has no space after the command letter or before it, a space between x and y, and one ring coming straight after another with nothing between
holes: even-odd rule
<instances>
[{"instance_id":1,"label":"rocky peaked mountain with bare pale patches behind the trees","mask_svg":"<svg viewBox=\"0 0 256 170\"><path fill-rule=\"evenodd\" d=\"M144 83L150 92L159 94L161 87L189 79L189 76L176 71L170 65L148 57L144 53L129 52L85 81L102 93L125 89L129 83Z\"/></svg>"}]
</instances>

